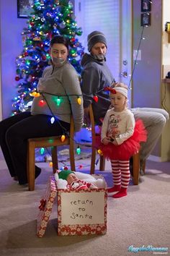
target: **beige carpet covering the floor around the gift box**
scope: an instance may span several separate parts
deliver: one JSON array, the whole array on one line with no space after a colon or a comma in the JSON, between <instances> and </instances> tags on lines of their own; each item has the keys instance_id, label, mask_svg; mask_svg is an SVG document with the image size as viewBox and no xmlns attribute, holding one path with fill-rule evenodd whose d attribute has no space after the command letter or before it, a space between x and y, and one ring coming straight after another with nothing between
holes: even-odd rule
<instances>
[{"instance_id":1,"label":"beige carpet covering the floor around the gift box","mask_svg":"<svg viewBox=\"0 0 170 256\"><path fill-rule=\"evenodd\" d=\"M51 168L47 163L38 165L42 174L36 180L35 191L29 192L27 186L19 186L12 180L4 160L0 161L0 255L126 256L134 254L128 252L131 245L169 247L167 255L170 255L170 163L147 161L143 182L138 186L130 182L127 197L108 197L107 234L58 236L54 205L43 238L36 236L36 219ZM81 165L82 171L89 171L89 159L76 161L77 168ZM110 186L109 163L100 174ZM135 255L153 255L153 252Z\"/></svg>"}]
</instances>

